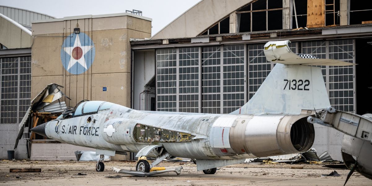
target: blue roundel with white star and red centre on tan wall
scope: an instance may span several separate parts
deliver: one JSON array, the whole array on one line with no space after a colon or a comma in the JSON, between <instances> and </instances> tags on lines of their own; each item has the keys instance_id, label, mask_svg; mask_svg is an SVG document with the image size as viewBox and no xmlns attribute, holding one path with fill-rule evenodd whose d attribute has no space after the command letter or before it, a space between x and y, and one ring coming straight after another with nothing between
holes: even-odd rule
<instances>
[{"instance_id":1,"label":"blue roundel with white star and red centre on tan wall","mask_svg":"<svg viewBox=\"0 0 372 186\"><path fill-rule=\"evenodd\" d=\"M62 65L70 74L81 74L92 66L95 54L96 49L88 35L72 33L62 44Z\"/></svg>"}]
</instances>

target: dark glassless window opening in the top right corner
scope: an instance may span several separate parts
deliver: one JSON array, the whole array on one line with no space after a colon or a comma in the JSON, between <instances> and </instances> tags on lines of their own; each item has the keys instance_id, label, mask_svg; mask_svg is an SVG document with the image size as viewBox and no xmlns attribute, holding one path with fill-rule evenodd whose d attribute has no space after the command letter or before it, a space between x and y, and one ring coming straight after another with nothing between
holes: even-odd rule
<instances>
[{"instance_id":1,"label":"dark glassless window opening in the top right corner","mask_svg":"<svg viewBox=\"0 0 372 186\"><path fill-rule=\"evenodd\" d=\"M372 1L350 0L350 25L372 22Z\"/></svg>"}]
</instances>

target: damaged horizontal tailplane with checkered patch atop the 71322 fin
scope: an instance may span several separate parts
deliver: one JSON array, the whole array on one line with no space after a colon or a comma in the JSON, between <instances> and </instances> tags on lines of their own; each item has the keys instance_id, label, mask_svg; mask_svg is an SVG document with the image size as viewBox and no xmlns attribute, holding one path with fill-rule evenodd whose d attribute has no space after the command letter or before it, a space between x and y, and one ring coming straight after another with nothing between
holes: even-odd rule
<instances>
[{"instance_id":1,"label":"damaged horizontal tailplane with checkered patch atop the 71322 fin","mask_svg":"<svg viewBox=\"0 0 372 186\"><path fill-rule=\"evenodd\" d=\"M355 65L350 62L331 60L331 59L320 59L311 55L306 54L295 54L289 49L286 41L270 41L264 45L263 52L265 53L266 60L272 62L278 62L286 65L330 65L330 66L347 66ZM301 57L302 55L302 57Z\"/></svg>"}]
</instances>

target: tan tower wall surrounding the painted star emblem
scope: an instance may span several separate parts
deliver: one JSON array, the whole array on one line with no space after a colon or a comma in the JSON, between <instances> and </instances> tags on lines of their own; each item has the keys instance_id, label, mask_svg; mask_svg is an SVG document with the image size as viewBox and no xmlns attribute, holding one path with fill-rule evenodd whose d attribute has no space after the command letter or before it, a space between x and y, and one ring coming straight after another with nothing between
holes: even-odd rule
<instances>
[{"instance_id":1,"label":"tan tower wall surrounding the painted star emblem","mask_svg":"<svg viewBox=\"0 0 372 186\"><path fill-rule=\"evenodd\" d=\"M76 25L94 43L92 66L82 74L70 74L62 65L61 47ZM130 106L131 47L129 38L149 38L151 21L132 16L59 20L32 24L31 94L35 97L47 84L64 86L71 98L68 106L83 99L103 100ZM107 91L102 91L107 87Z\"/></svg>"}]
</instances>

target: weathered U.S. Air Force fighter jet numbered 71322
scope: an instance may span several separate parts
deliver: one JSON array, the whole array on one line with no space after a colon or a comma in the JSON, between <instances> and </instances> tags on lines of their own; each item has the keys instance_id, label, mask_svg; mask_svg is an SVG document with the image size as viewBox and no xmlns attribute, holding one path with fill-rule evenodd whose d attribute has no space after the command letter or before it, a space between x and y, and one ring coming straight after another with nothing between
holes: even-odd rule
<instances>
[{"instance_id":1,"label":"weathered U.S. Air Force fighter jet numbered 71322","mask_svg":"<svg viewBox=\"0 0 372 186\"><path fill-rule=\"evenodd\" d=\"M103 155L129 152L156 158L151 164L140 158L136 170L142 173L149 173L165 158L183 157L192 159L197 170L214 174L217 167L243 163L246 158L308 151L315 137L314 119L321 123L317 114L330 108L321 69L314 65L353 64L295 54L289 42L264 45L266 59L276 62L275 67L256 94L230 114L144 111L83 100L31 131L95 148L101 157L97 171L104 170ZM309 116L313 120L308 121Z\"/></svg>"}]
</instances>

